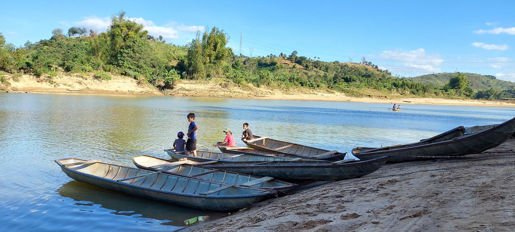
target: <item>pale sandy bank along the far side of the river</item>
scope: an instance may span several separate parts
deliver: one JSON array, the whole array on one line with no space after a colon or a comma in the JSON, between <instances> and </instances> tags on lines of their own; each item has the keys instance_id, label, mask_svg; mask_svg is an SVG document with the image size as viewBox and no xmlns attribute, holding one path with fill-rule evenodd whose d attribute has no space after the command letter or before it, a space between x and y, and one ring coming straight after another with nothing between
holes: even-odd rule
<instances>
[{"instance_id":1,"label":"pale sandy bank along the far side of the river","mask_svg":"<svg viewBox=\"0 0 515 232\"><path fill-rule=\"evenodd\" d=\"M139 84L138 81L123 76L113 76L109 81L99 81L92 74L83 77L77 75L60 75L54 78L54 83L42 81L31 75L22 75L18 81L5 75L11 86L0 87L0 91L14 93L76 93L76 94L123 94L123 95L166 95L190 97L219 97L219 98L255 98L269 100L303 100L303 101L339 101L339 102L371 102L371 103L400 103L409 104L436 104L436 105L472 105L472 106L509 106L515 103L507 101L485 101L471 99L443 99L443 98L406 98L402 95L353 97L344 93L295 89L289 91L270 90L268 88L254 87L251 84L239 86L220 80L214 81L181 81L174 90L164 94L148 84ZM72 91L70 89L76 89Z\"/></svg>"}]
</instances>

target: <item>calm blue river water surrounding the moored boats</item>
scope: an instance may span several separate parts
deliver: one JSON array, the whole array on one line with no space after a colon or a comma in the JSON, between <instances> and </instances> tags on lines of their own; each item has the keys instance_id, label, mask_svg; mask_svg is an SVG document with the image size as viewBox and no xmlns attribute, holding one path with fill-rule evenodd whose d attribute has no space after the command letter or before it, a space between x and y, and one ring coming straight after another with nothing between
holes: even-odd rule
<instances>
[{"instance_id":1,"label":"calm blue river water surrounding the moored boats","mask_svg":"<svg viewBox=\"0 0 515 232\"><path fill-rule=\"evenodd\" d=\"M500 123L513 108L158 96L0 94L0 231L182 228L205 211L82 184L55 159L78 157L133 167L133 155L169 158L186 115L196 114L199 149L242 124L255 135L328 150L418 141L457 126Z\"/></svg>"}]
</instances>

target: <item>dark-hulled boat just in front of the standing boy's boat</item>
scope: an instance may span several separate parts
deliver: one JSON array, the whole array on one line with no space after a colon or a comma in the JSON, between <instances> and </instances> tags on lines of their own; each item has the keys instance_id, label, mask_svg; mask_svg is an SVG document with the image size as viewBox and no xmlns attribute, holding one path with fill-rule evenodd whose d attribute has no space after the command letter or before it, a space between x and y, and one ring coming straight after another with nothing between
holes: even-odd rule
<instances>
[{"instance_id":1,"label":"dark-hulled boat just in front of the standing boy's boat","mask_svg":"<svg viewBox=\"0 0 515 232\"><path fill-rule=\"evenodd\" d=\"M381 168L388 158L388 156L384 156L370 160L345 159L336 162L327 160L217 162L203 166L283 180L338 181L370 174Z\"/></svg>"}]
</instances>

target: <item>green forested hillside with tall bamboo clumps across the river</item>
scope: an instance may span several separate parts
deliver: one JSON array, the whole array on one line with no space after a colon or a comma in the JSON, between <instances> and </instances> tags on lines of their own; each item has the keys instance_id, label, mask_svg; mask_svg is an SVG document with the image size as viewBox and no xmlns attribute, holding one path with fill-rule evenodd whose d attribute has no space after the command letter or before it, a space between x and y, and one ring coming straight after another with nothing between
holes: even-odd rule
<instances>
[{"instance_id":1,"label":"green forested hillside with tall bamboo clumps across the river","mask_svg":"<svg viewBox=\"0 0 515 232\"><path fill-rule=\"evenodd\" d=\"M52 38L27 42L23 47L6 43L0 34L0 69L11 74L33 74L48 82L62 72L94 73L100 81L121 74L163 91L173 89L181 79L221 79L242 86L318 88L357 96L374 91L448 98L511 97L508 92L501 96L499 91L478 95L468 79L459 75L444 85L393 77L365 58L361 63L340 63L308 58L297 51L266 57L236 55L227 47L228 35L217 27L198 31L191 43L181 46L149 35L143 25L128 20L125 12L114 15L111 21L106 32L88 33L87 28L72 27L66 36L63 30L55 29ZM0 83L10 84L1 75Z\"/></svg>"}]
</instances>

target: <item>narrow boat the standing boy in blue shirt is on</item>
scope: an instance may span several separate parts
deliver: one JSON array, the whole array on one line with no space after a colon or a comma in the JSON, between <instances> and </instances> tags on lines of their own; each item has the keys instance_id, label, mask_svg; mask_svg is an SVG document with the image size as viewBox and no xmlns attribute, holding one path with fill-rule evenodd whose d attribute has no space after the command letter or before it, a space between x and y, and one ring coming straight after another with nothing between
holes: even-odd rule
<instances>
[{"instance_id":1,"label":"narrow boat the standing boy in blue shirt is on","mask_svg":"<svg viewBox=\"0 0 515 232\"><path fill-rule=\"evenodd\" d=\"M210 151L197 151L197 157L193 155L186 155L185 153L175 153L174 149L166 149L164 150L171 158L179 160L181 158L193 159L198 162L206 162L217 160L219 162L244 162L244 161L270 161L270 160L291 160L293 158L286 157L274 157L274 156L252 156L252 155L243 155L243 154L226 154L219 152L210 152Z\"/></svg>"}]
</instances>

